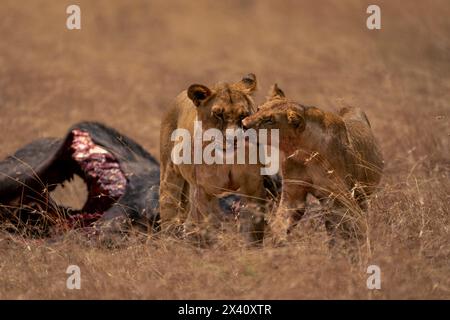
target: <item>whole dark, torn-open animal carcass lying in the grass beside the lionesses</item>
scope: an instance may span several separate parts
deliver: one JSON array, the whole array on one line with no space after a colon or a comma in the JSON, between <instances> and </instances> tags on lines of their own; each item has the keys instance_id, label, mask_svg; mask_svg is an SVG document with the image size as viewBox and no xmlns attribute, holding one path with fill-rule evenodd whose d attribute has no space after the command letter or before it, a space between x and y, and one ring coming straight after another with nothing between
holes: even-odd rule
<instances>
[{"instance_id":1,"label":"whole dark, torn-open animal carcass lying in the grass beside the lionesses","mask_svg":"<svg viewBox=\"0 0 450 320\"><path fill-rule=\"evenodd\" d=\"M88 198L83 208L59 206L50 192L80 176ZM38 226L92 227L102 222L131 222L157 230L159 164L140 145L96 122L75 124L63 139L31 142L0 162L2 220Z\"/></svg>"}]
</instances>

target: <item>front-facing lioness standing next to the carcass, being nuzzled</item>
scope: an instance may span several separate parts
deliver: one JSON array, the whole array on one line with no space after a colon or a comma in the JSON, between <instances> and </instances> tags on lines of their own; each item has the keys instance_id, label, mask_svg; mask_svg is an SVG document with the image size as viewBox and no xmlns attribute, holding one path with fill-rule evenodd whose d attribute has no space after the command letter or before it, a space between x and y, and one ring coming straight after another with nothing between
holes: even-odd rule
<instances>
[{"instance_id":1,"label":"front-facing lioness standing next to the carcass, being nuzzled","mask_svg":"<svg viewBox=\"0 0 450 320\"><path fill-rule=\"evenodd\" d=\"M202 121L203 130L216 128L224 136L226 129L241 128L242 119L256 111L251 98L256 85L254 74L237 83L218 83L212 88L193 84L178 95L174 106L163 117L160 135L160 215L163 224L170 226L184 222L185 232L198 235L194 232L197 229L204 233L207 225L220 222L218 198L229 192L238 192L244 200L248 197L262 205L266 190L258 165L174 164L171 159L175 145L172 133L176 129L186 129L194 136L195 120ZM183 211L188 212L187 217ZM264 219L253 218L247 231L252 234L252 240L261 240Z\"/></svg>"}]
</instances>

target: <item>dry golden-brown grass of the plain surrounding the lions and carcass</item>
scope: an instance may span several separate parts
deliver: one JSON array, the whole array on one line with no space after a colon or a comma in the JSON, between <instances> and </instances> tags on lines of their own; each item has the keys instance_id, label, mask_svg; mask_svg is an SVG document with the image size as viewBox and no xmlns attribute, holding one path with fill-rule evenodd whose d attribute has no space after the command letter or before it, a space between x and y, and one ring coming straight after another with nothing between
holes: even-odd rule
<instances>
[{"instance_id":1,"label":"dry golden-brown grass of the plain surrounding the lions and carcass","mask_svg":"<svg viewBox=\"0 0 450 320\"><path fill-rule=\"evenodd\" d=\"M276 81L305 104L362 107L386 170L357 263L330 254L314 219L284 248L246 248L234 233L209 249L2 233L0 298L450 298L450 5L376 2L380 31L365 28L365 1L79 1L82 30L68 31L65 2L2 1L0 157L80 120L157 155L179 91L254 72L258 101ZM79 291L65 288L69 264ZM381 267L376 292L369 264Z\"/></svg>"}]
</instances>

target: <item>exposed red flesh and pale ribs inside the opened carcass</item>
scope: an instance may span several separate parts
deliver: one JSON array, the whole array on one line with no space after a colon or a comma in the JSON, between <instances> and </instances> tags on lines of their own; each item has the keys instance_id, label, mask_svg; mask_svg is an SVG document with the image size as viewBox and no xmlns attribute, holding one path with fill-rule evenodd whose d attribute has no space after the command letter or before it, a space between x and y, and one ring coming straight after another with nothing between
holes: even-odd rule
<instances>
[{"instance_id":1,"label":"exposed red flesh and pale ribs inside the opened carcass","mask_svg":"<svg viewBox=\"0 0 450 320\"><path fill-rule=\"evenodd\" d=\"M125 193L127 179L119 162L97 145L86 131L72 130L71 158L88 188L88 199L79 211L68 214L71 226L85 227L98 220Z\"/></svg>"}]
</instances>

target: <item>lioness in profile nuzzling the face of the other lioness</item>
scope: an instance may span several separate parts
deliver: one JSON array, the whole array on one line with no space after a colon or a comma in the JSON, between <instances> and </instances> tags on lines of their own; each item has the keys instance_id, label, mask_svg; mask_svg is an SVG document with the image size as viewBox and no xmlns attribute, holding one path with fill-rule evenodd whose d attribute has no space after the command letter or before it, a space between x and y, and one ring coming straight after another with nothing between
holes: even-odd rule
<instances>
[{"instance_id":1,"label":"lioness in profile nuzzling the face of the other lioness","mask_svg":"<svg viewBox=\"0 0 450 320\"><path fill-rule=\"evenodd\" d=\"M279 129L282 195L272 229L284 241L305 212L308 193L321 200L329 233L360 234L355 208L367 209L367 197L380 181L383 160L365 113L346 107L338 114L286 99L277 85L244 128ZM352 206L356 204L356 206ZM354 223L359 221L358 223ZM339 228L336 228L339 226ZM356 233L354 231L357 231ZM281 238L281 239L280 239Z\"/></svg>"}]
</instances>

